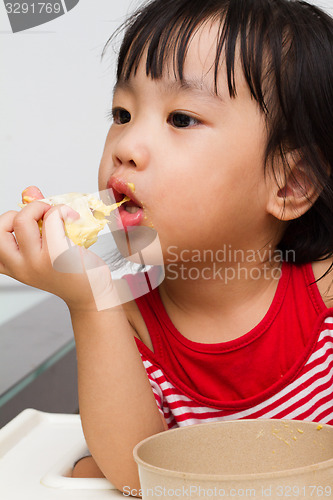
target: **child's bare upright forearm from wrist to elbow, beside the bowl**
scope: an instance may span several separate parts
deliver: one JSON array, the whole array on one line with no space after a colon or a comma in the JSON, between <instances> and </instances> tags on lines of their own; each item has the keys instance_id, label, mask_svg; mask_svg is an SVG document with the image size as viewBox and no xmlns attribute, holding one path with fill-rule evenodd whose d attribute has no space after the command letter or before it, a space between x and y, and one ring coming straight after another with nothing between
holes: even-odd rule
<instances>
[{"instance_id":1,"label":"child's bare upright forearm from wrist to elbow, beside the bowl","mask_svg":"<svg viewBox=\"0 0 333 500\"><path fill-rule=\"evenodd\" d=\"M134 330L121 307L71 311L78 357L79 404L86 441L98 467L118 488L140 489L134 446L165 426Z\"/></svg>"}]
</instances>

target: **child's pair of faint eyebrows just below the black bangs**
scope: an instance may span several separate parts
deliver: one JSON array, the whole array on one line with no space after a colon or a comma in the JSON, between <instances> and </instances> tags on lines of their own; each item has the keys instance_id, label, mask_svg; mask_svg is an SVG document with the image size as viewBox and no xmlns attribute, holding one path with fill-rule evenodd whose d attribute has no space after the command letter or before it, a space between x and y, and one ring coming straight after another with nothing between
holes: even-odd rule
<instances>
[{"instance_id":1,"label":"child's pair of faint eyebrows just below the black bangs","mask_svg":"<svg viewBox=\"0 0 333 500\"><path fill-rule=\"evenodd\" d=\"M166 81L164 79L158 80L159 82L162 83L163 87L163 92L165 93L176 93L176 92L184 92L184 93L193 93L196 94L199 97L202 98L209 98L210 100L213 99L218 99L220 101L223 101L222 97L217 94L214 89L210 88L206 83L204 83L202 80L198 78L191 78L191 79L185 79L183 80L173 80L173 81ZM124 90L124 91L133 91L134 90L134 85L131 83L130 80L118 80L117 83L114 86L113 89L113 95L116 93L117 90Z\"/></svg>"}]
</instances>

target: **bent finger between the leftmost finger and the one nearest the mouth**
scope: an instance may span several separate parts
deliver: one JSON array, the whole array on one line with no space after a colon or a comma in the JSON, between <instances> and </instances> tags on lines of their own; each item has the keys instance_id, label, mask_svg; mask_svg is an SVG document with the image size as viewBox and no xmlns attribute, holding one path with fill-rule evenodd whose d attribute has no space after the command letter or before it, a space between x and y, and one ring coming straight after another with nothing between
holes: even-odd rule
<instances>
[{"instance_id":1,"label":"bent finger between the leftmost finger and the one nearest the mouth","mask_svg":"<svg viewBox=\"0 0 333 500\"><path fill-rule=\"evenodd\" d=\"M25 206L14 219L14 232L24 258L34 259L42 247L38 221L50 210L51 205L33 201Z\"/></svg>"}]
</instances>

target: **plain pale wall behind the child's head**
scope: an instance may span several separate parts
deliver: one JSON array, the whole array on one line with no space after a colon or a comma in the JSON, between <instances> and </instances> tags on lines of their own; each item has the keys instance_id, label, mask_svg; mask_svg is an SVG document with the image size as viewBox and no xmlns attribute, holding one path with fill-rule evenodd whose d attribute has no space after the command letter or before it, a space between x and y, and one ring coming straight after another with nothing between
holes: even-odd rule
<instances>
[{"instance_id":1,"label":"plain pale wall behind the child's head","mask_svg":"<svg viewBox=\"0 0 333 500\"><path fill-rule=\"evenodd\" d=\"M17 209L31 184L49 196L97 190L116 60L109 51L101 63L100 54L140 3L80 0L66 15L12 34L0 2L0 213ZM333 0L313 3L333 14Z\"/></svg>"}]
</instances>

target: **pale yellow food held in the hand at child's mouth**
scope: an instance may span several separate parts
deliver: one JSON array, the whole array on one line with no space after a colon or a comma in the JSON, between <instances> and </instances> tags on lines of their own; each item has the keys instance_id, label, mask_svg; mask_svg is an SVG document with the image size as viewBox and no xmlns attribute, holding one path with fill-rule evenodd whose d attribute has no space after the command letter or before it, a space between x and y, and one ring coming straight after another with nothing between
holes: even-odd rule
<instances>
[{"instance_id":1,"label":"pale yellow food held in the hand at child's mouth","mask_svg":"<svg viewBox=\"0 0 333 500\"><path fill-rule=\"evenodd\" d=\"M26 191L26 190L25 190ZM29 195L22 193L23 208L28 203L34 201ZM65 221L65 233L76 245L90 247L97 241L98 233L104 229L108 220L106 217L118 208L120 205L129 201L126 196L123 200L112 205L105 205L101 200L95 198L91 194L85 193L67 193L58 196L50 196L49 198L39 199L49 205L67 205L80 214L80 218L74 221ZM42 230L42 221L38 222L40 231Z\"/></svg>"}]
</instances>

